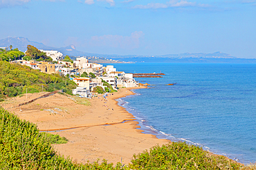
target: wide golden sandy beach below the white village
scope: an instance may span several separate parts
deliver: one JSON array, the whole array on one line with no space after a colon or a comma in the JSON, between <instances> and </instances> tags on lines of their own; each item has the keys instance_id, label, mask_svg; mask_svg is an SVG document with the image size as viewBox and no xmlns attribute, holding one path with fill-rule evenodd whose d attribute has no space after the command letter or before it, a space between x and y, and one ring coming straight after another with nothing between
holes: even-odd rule
<instances>
[{"instance_id":1,"label":"wide golden sandy beach below the white village","mask_svg":"<svg viewBox=\"0 0 256 170\"><path fill-rule=\"evenodd\" d=\"M104 158L114 164L121 160L128 164L134 153L170 142L150 134L142 134L134 116L118 105L117 98L134 94L129 88L109 94L107 99L102 98L102 95L84 99L54 94L28 105L15 107L43 94L46 92L9 98L1 106L19 118L37 124L41 131L65 129L50 132L68 139L68 143L53 147L61 155L70 156L77 162L93 162ZM86 103L86 100L89 100L90 105L80 104Z\"/></svg>"}]
</instances>

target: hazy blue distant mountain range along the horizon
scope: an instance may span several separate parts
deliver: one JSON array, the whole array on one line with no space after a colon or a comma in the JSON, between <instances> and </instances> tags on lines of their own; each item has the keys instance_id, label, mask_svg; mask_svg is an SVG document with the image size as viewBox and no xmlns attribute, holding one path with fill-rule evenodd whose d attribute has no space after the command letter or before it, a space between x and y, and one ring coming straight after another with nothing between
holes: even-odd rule
<instances>
[{"instance_id":1,"label":"hazy blue distant mountain range along the horizon","mask_svg":"<svg viewBox=\"0 0 256 170\"><path fill-rule=\"evenodd\" d=\"M223 52L214 53L183 53L183 54L167 54L161 56L143 56L143 55L117 55L117 54L94 54L89 52L80 52L75 49L75 45L68 45L66 47L50 47L43 43L35 41L29 41L24 37L8 37L0 40L0 47L18 48L22 52L25 52L27 45L33 45L39 50L57 50L62 54L68 56L98 56L105 59L116 59L119 61L131 61L131 62L188 62L188 63L256 63L256 59L239 59L230 54ZM73 57L75 58L75 57Z\"/></svg>"}]
</instances>

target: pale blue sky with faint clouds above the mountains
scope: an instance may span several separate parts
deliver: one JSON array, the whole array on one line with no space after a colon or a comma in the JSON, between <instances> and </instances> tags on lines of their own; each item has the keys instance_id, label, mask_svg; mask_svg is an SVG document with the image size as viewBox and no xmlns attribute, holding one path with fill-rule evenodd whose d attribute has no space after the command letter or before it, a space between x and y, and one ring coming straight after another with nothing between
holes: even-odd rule
<instances>
[{"instance_id":1,"label":"pale blue sky with faint clouds above the mountains","mask_svg":"<svg viewBox=\"0 0 256 170\"><path fill-rule=\"evenodd\" d=\"M256 59L256 0L0 0L0 39L98 54Z\"/></svg>"}]
</instances>

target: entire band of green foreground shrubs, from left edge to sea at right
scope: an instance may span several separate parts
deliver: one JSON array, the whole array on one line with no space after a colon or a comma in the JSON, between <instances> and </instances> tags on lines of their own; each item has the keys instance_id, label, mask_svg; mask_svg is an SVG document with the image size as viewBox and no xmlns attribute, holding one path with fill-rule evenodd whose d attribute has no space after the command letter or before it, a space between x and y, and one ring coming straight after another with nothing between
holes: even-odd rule
<instances>
[{"instance_id":1,"label":"entire band of green foreground shrubs, from left edge to sea at right","mask_svg":"<svg viewBox=\"0 0 256 170\"><path fill-rule=\"evenodd\" d=\"M59 138L59 137L55 137ZM77 164L59 156L51 143L55 138L40 133L37 126L19 120L0 108L0 167L2 169L241 169L223 156L211 156L200 147L184 142L155 146L134 155L128 165L114 166L107 160Z\"/></svg>"}]
</instances>

